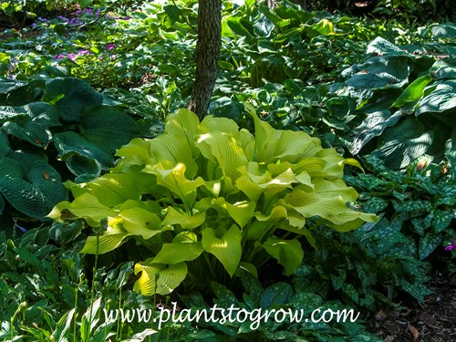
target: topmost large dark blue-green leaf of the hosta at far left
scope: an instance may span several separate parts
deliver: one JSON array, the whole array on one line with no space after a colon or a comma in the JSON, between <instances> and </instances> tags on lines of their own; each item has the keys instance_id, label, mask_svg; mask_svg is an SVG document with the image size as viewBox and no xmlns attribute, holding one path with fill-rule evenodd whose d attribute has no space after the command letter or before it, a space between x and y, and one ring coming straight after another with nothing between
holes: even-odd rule
<instances>
[{"instance_id":1,"label":"topmost large dark blue-green leaf of the hosta at far left","mask_svg":"<svg viewBox=\"0 0 456 342\"><path fill-rule=\"evenodd\" d=\"M43 102L55 105L58 115L67 122L80 122L88 106L101 105L103 96L78 78L54 78L47 82Z\"/></svg>"}]
</instances>

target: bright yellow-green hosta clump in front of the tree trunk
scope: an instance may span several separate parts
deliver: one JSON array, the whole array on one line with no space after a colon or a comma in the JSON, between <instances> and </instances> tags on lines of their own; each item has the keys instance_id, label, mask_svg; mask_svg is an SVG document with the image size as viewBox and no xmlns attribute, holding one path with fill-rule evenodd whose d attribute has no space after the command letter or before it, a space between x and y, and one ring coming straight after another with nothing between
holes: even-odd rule
<instances>
[{"instance_id":1,"label":"bright yellow-green hosta clump in front of the tree trunk","mask_svg":"<svg viewBox=\"0 0 456 342\"><path fill-rule=\"evenodd\" d=\"M275 130L254 118L254 135L232 119L189 110L167 118L164 133L134 139L117 152L116 167L93 181L69 183L73 202L49 214L106 226L82 253L104 254L127 239L148 248L135 265L135 289L168 294L186 279L223 281L240 268L275 258L291 274L313 244L306 219L318 216L337 231L376 217L347 207L358 193L342 180L344 165L359 166L304 131Z\"/></svg>"}]
</instances>

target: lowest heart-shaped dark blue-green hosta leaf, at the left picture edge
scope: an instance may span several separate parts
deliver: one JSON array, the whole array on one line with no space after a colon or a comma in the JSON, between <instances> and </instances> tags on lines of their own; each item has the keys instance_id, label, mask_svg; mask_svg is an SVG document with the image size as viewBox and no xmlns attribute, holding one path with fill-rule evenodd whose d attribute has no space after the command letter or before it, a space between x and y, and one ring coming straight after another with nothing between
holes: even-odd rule
<instances>
[{"instance_id":1,"label":"lowest heart-shaped dark blue-green hosta leaf, at the left picture edge","mask_svg":"<svg viewBox=\"0 0 456 342\"><path fill-rule=\"evenodd\" d=\"M0 192L17 211L38 220L57 202L67 199L60 175L45 161L26 166L10 158L1 159Z\"/></svg>"}]
</instances>

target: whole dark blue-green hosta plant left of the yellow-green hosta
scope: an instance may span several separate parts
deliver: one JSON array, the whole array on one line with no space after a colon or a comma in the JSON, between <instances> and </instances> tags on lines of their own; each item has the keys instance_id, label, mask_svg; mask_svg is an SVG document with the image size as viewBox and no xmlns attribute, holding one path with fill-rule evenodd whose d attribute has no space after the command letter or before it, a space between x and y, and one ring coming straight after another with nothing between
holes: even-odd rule
<instances>
[{"instance_id":1,"label":"whole dark blue-green hosta plant left of the yellow-green hosta","mask_svg":"<svg viewBox=\"0 0 456 342\"><path fill-rule=\"evenodd\" d=\"M121 145L140 135L130 116L103 105L103 96L80 79L1 84L0 212L9 202L18 212L44 219L67 199L61 181L70 176L59 174L56 159L78 181L91 179L113 166Z\"/></svg>"}]
</instances>

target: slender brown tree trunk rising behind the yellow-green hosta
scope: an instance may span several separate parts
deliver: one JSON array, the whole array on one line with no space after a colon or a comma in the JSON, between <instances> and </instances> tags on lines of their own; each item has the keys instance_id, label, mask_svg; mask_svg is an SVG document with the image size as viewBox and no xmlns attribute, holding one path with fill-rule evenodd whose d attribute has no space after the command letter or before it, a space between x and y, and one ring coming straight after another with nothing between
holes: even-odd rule
<instances>
[{"instance_id":1,"label":"slender brown tree trunk rising behind the yellow-green hosta","mask_svg":"<svg viewBox=\"0 0 456 342\"><path fill-rule=\"evenodd\" d=\"M189 109L202 119L209 109L217 79L217 60L222 45L222 0L200 0L198 5L196 78Z\"/></svg>"}]
</instances>

